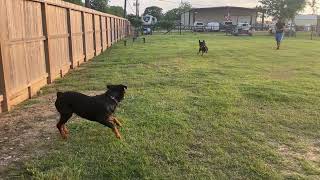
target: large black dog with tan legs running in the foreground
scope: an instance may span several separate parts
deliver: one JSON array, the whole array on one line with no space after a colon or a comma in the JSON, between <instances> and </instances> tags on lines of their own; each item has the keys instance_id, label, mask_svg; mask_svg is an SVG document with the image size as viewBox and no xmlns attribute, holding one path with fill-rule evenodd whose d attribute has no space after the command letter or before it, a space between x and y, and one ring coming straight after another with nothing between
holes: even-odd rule
<instances>
[{"instance_id":1,"label":"large black dog with tan legs running in the foreground","mask_svg":"<svg viewBox=\"0 0 320 180\"><path fill-rule=\"evenodd\" d=\"M97 96L87 96L78 92L58 92L55 106L60 113L57 128L61 136L66 139L69 133L65 124L72 114L96 121L112 129L118 139L121 135L117 126L121 127L119 120L113 116L118 104L123 100L127 86L108 85L107 91Z\"/></svg>"}]
</instances>

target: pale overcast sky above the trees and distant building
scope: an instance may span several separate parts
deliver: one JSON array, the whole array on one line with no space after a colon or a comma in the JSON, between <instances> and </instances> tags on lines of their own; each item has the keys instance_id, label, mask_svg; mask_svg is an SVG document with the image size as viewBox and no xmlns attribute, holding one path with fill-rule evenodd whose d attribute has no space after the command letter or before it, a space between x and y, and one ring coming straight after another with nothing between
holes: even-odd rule
<instances>
[{"instance_id":1,"label":"pale overcast sky above the trees and distant building","mask_svg":"<svg viewBox=\"0 0 320 180\"><path fill-rule=\"evenodd\" d=\"M258 0L182 0L188 1L191 3L192 7L214 7L214 6L240 6L240 7L255 7L258 4ZM135 14L135 6L133 3L136 0L127 0L128 13ZM140 14L142 14L146 7L149 6L158 6L163 9L164 12L176 8L179 6L181 0L139 0L140 2ZM122 6L124 5L124 0L110 0L110 5ZM307 10L304 13L310 13L310 10Z\"/></svg>"}]
</instances>

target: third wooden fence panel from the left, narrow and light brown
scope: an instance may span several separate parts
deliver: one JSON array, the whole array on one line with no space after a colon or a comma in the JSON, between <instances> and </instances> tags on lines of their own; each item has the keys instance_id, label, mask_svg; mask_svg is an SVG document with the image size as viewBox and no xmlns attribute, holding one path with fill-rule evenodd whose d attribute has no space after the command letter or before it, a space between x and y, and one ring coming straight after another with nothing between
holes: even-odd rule
<instances>
[{"instance_id":1,"label":"third wooden fence panel from the left, narrow and light brown","mask_svg":"<svg viewBox=\"0 0 320 180\"><path fill-rule=\"evenodd\" d=\"M72 40L72 55L73 67L79 66L84 62L85 54L83 48L83 26L82 15L80 11L70 11L71 24L71 40Z\"/></svg>"}]
</instances>

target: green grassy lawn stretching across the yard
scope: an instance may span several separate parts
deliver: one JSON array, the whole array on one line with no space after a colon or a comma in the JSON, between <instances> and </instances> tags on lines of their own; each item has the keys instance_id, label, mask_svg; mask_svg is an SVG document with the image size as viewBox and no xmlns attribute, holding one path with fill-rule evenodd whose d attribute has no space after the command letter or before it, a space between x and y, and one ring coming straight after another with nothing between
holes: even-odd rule
<instances>
[{"instance_id":1,"label":"green grassy lawn stretching across the yard","mask_svg":"<svg viewBox=\"0 0 320 180\"><path fill-rule=\"evenodd\" d=\"M209 54L197 56L205 39ZM269 36L154 35L118 43L44 89L128 85L123 140L68 124L20 171L40 179L320 178L320 41Z\"/></svg>"}]
</instances>

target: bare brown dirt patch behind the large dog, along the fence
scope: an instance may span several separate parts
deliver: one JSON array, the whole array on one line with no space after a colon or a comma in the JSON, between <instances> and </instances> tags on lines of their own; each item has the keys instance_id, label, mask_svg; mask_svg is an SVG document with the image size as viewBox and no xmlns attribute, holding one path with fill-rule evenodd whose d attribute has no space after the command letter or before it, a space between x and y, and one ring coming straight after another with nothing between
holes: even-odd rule
<instances>
[{"instance_id":1,"label":"bare brown dirt patch behind the large dog, along the fence","mask_svg":"<svg viewBox=\"0 0 320 180\"><path fill-rule=\"evenodd\" d=\"M37 97L0 115L0 177L9 165L45 152L39 147L56 134L54 100L55 94Z\"/></svg>"}]
</instances>

